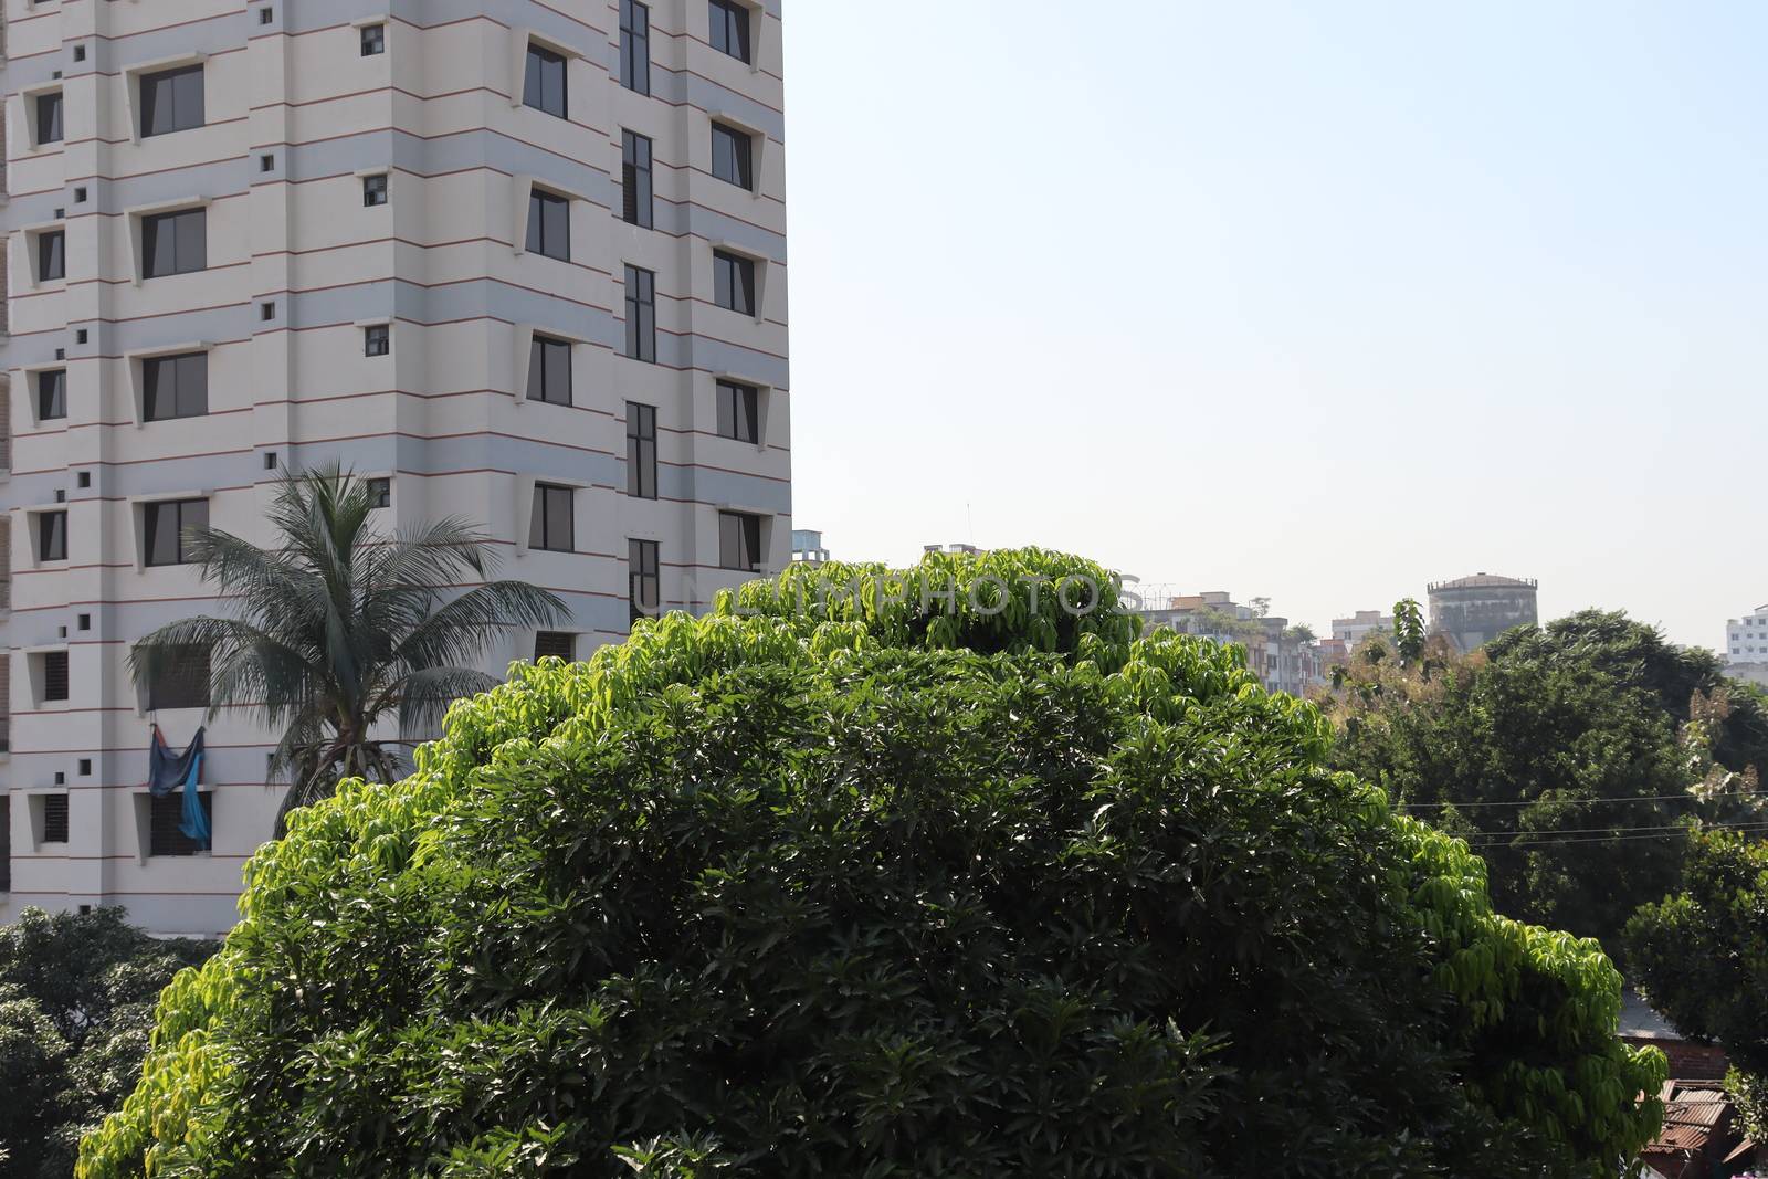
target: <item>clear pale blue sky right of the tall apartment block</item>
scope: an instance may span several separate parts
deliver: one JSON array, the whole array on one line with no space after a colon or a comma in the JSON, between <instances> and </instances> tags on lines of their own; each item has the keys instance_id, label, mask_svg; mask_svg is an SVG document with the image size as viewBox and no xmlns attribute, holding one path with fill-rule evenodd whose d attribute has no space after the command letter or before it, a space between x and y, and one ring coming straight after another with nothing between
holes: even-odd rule
<instances>
[{"instance_id":1,"label":"clear pale blue sky right of the tall apartment block","mask_svg":"<svg viewBox=\"0 0 1768 1179\"><path fill-rule=\"evenodd\" d=\"M1109 18L1107 18L1109 12ZM796 520L1768 603L1768 5L787 4Z\"/></svg>"}]
</instances>

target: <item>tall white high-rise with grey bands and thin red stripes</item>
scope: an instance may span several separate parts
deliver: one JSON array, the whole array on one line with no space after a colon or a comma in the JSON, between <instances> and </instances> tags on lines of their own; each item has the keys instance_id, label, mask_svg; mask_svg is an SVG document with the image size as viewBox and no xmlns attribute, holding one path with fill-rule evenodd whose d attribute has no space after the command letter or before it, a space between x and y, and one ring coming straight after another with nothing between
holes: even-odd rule
<instances>
[{"instance_id":1,"label":"tall white high-rise with grey bands and thin red stripes","mask_svg":"<svg viewBox=\"0 0 1768 1179\"><path fill-rule=\"evenodd\" d=\"M212 843L149 795L131 645L219 608L180 529L285 472L479 521L622 638L790 560L778 0L4 0L0 921L235 921L274 735L223 716Z\"/></svg>"}]
</instances>

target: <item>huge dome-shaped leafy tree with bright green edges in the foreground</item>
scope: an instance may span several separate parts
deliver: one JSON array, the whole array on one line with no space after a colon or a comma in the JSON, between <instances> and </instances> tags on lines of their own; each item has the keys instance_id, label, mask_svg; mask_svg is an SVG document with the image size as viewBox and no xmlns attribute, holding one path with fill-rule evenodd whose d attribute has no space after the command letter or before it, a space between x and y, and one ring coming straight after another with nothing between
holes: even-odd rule
<instances>
[{"instance_id":1,"label":"huge dome-shaped leafy tree with bright green edges in the foreground","mask_svg":"<svg viewBox=\"0 0 1768 1179\"><path fill-rule=\"evenodd\" d=\"M81 1174L1612 1175L1598 947L1135 635L1027 550L518 665L260 850Z\"/></svg>"}]
</instances>

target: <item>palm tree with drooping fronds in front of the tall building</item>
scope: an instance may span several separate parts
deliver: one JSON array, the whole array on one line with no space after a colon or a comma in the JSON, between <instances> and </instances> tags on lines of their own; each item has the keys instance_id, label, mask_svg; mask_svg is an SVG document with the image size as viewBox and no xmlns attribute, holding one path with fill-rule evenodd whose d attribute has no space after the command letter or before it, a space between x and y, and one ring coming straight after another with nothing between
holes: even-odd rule
<instances>
[{"instance_id":1,"label":"palm tree with drooping fronds in front of the tall building","mask_svg":"<svg viewBox=\"0 0 1768 1179\"><path fill-rule=\"evenodd\" d=\"M546 590L488 580L497 553L467 521L385 536L373 516L368 484L332 465L283 481L269 511L281 548L193 529L193 560L233 617L171 622L129 654L145 684L207 649L209 718L244 709L283 730L271 760L271 780L290 783L278 834L339 778L394 781L403 737L435 732L449 702L497 684L470 666L495 636L569 617ZM483 583L454 594L461 582ZM401 739L377 737L389 721Z\"/></svg>"}]
</instances>

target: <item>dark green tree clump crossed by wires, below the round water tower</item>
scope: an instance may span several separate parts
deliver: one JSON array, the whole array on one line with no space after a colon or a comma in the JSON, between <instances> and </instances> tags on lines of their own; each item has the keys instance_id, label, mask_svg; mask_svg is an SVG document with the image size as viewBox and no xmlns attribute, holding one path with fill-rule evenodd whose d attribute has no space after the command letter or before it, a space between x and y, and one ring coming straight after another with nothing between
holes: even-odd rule
<instances>
[{"instance_id":1,"label":"dark green tree clump crossed by wires, below the round water tower","mask_svg":"<svg viewBox=\"0 0 1768 1179\"><path fill-rule=\"evenodd\" d=\"M1466 836L1501 912L1618 947L1673 891L1696 818L1763 822L1761 696L1651 628L1586 612L1459 658L1361 649L1328 707L1333 760Z\"/></svg>"}]
</instances>

